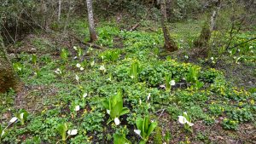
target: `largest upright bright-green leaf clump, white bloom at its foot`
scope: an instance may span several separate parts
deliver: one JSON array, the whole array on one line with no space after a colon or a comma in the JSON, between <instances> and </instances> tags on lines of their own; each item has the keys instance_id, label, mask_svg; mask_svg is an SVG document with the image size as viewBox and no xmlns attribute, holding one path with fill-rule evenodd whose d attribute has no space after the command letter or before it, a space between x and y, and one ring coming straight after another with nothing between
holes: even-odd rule
<instances>
[{"instance_id":1,"label":"largest upright bright-green leaf clump, white bloom at its foot","mask_svg":"<svg viewBox=\"0 0 256 144\"><path fill-rule=\"evenodd\" d=\"M111 96L108 100L102 102L103 107L107 109L110 119L108 124L114 120L116 125L119 125L119 117L130 112L127 107L123 105L123 96L121 90L118 90L116 95Z\"/></svg>"}]
</instances>

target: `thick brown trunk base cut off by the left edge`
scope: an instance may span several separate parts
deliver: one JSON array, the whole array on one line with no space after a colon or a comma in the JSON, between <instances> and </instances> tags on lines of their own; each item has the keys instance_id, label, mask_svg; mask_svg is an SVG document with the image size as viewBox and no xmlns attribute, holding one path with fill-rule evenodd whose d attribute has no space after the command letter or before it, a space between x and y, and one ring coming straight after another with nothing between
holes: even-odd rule
<instances>
[{"instance_id":1,"label":"thick brown trunk base cut off by the left edge","mask_svg":"<svg viewBox=\"0 0 256 144\"><path fill-rule=\"evenodd\" d=\"M0 93L8 91L10 88L16 89L18 78L4 48L3 38L0 35Z\"/></svg>"}]
</instances>

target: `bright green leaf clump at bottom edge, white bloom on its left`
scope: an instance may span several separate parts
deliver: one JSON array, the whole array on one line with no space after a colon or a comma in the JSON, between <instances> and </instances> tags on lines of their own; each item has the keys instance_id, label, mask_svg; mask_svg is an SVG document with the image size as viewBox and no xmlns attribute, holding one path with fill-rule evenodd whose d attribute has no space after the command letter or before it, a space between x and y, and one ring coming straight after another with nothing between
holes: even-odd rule
<instances>
[{"instance_id":1,"label":"bright green leaf clump at bottom edge, white bloom on its left","mask_svg":"<svg viewBox=\"0 0 256 144\"><path fill-rule=\"evenodd\" d=\"M157 126L156 122L150 121L149 117L137 118L136 120L137 130L134 132L143 139L140 144L145 144L148 141L148 137Z\"/></svg>"}]
</instances>

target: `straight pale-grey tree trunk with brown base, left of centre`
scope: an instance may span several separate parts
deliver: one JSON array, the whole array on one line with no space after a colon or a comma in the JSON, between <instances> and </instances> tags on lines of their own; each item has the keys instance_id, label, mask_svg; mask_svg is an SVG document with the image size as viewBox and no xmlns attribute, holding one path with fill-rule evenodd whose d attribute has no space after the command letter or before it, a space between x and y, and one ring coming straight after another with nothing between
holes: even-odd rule
<instances>
[{"instance_id":1,"label":"straight pale-grey tree trunk with brown base, left of centre","mask_svg":"<svg viewBox=\"0 0 256 144\"><path fill-rule=\"evenodd\" d=\"M95 24L93 20L92 3L91 3L91 0L86 0L86 3L87 3L87 10L88 10L90 42L94 42L97 40L97 35L96 35Z\"/></svg>"}]
</instances>

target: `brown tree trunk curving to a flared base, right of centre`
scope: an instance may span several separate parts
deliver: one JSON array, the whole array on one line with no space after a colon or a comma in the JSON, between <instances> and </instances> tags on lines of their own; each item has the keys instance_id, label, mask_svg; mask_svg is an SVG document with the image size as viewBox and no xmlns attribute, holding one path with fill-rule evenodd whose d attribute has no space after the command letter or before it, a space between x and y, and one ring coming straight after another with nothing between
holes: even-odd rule
<instances>
[{"instance_id":1,"label":"brown tree trunk curving to a flared base, right of centre","mask_svg":"<svg viewBox=\"0 0 256 144\"><path fill-rule=\"evenodd\" d=\"M172 37L170 36L170 32L166 25L167 18L166 18L166 0L160 0L160 9L161 9L161 26L164 33L165 38L165 46L164 48L168 51L176 51L177 44L173 41Z\"/></svg>"}]
</instances>

